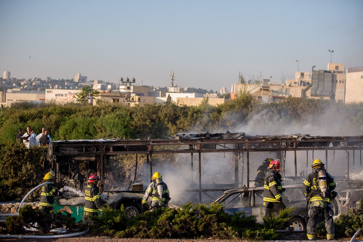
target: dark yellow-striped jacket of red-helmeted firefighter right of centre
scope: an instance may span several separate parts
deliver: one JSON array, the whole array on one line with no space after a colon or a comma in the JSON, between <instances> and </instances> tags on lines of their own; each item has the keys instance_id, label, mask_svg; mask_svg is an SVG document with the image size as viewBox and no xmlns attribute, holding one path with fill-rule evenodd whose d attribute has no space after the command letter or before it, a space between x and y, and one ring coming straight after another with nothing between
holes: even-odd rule
<instances>
[{"instance_id":1,"label":"dark yellow-striped jacket of red-helmeted firefighter right of centre","mask_svg":"<svg viewBox=\"0 0 363 242\"><path fill-rule=\"evenodd\" d=\"M282 201L282 185L281 175L274 169L267 172L264 184L264 205L267 206L269 202Z\"/></svg>"}]
</instances>

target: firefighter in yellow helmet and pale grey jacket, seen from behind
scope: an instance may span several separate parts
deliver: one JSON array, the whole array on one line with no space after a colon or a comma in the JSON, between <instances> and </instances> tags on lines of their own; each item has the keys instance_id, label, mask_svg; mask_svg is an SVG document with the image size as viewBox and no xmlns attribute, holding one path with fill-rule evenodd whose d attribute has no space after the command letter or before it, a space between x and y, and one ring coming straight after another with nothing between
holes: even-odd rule
<instances>
[{"instance_id":1,"label":"firefighter in yellow helmet and pale grey jacket, seen from behind","mask_svg":"<svg viewBox=\"0 0 363 242\"><path fill-rule=\"evenodd\" d=\"M159 172L155 172L152 177L152 182L147 187L144 197L142 198L141 206L146 208L146 201L148 197L151 197L151 205L149 211L166 207L170 201L169 189L165 182L162 180L162 176Z\"/></svg>"}]
</instances>

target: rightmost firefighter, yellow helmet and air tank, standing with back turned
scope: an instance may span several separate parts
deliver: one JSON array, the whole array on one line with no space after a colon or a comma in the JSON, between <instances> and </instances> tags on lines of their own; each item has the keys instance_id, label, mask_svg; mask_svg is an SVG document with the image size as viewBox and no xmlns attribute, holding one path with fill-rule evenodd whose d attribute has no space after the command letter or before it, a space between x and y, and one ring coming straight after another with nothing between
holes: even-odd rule
<instances>
[{"instance_id":1,"label":"rightmost firefighter, yellow helmet and air tank, standing with back turned","mask_svg":"<svg viewBox=\"0 0 363 242\"><path fill-rule=\"evenodd\" d=\"M307 222L306 235L309 240L315 239L317 230L318 215L322 213L325 218L326 238L332 240L335 237L334 230L334 210L331 206L331 200L337 195L333 177L326 172L324 163L316 159L313 161L313 171L306 177L303 182L305 196L310 203L309 221Z\"/></svg>"}]
</instances>

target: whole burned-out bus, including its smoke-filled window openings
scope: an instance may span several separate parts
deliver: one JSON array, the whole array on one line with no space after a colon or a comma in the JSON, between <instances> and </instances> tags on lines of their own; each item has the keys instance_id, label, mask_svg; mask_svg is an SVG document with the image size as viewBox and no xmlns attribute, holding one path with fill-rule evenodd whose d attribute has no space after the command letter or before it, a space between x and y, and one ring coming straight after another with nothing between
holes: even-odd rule
<instances>
[{"instance_id":1,"label":"whole burned-out bus, including its smoke-filled window openings","mask_svg":"<svg viewBox=\"0 0 363 242\"><path fill-rule=\"evenodd\" d=\"M131 217L143 212L142 196L155 171L174 206L213 202L226 190L253 187L257 167L269 157L282 160L283 185L301 185L312 161L320 159L337 183L336 213L347 213L363 197L362 148L363 136L180 133L166 140L52 141L44 166L65 185L58 204L82 204L86 180L97 174L102 200L113 208L123 205ZM291 201L306 201L296 196Z\"/></svg>"}]
</instances>

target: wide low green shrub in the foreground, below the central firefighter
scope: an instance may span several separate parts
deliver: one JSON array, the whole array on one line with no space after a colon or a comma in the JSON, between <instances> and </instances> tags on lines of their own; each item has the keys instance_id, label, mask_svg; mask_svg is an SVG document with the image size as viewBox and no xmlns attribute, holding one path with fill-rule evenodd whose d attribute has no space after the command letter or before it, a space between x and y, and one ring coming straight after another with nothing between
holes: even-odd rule
<instances>
[{"instance_id":1,"label":"wide low green shrub in the foreground, below the central firefighter","mask_svg":"<svg viewBox=\"0 0 363 242\"><path fill-rule=\"evenodd\" d=\"M115 218L115 219L114 219ZM145 212L126 223L120 212L107 208L95 218L93 233L117 238L213 238L277 239L275 230L264 229L255 216L244 213L229 215L221 204L188 204L182 209L160 208Z\"/></svg>"}]
</instances>

